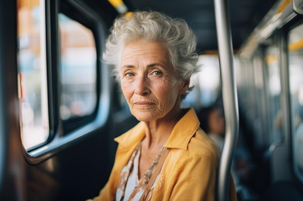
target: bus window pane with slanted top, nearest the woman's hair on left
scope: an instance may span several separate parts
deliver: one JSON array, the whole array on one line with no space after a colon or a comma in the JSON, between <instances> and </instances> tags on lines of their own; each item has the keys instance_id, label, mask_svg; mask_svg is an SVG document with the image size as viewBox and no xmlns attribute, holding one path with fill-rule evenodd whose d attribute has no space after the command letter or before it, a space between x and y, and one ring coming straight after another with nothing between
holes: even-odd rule
<instances>
[{"instance_id":1,"label":"bus window pane with slanted top, nearest the woman's hair on left","mask_svg":"<svg viewBox=\"0 0 303 201\"><path fill-rule=\"evenodd\" d=\"M91 115L97 104L96 46L91 29L60 13L61 119Z\"/></svg>"}]
</instances>

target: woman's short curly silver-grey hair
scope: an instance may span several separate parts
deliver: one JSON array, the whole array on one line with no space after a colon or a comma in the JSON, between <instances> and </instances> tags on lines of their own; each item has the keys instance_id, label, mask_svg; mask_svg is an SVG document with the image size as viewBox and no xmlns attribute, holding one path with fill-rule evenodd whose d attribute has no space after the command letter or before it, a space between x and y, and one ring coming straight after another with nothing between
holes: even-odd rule
<instances>
[{"instance_id":1,"label":"woman's short curly silver-grey hair","mask_svg":"<svg viewBox=\"0 0 303 201\"><path fill-rule=\"evenodd\" d=\"M200 70L196 36L182 19L172 19L158 12L134 12L129 18L117 17L110 32L103 60L114 66L118 80L121 78L121 51L136 40L165 44L179 79L188 80Z\"/></svg>"}]
</instances>

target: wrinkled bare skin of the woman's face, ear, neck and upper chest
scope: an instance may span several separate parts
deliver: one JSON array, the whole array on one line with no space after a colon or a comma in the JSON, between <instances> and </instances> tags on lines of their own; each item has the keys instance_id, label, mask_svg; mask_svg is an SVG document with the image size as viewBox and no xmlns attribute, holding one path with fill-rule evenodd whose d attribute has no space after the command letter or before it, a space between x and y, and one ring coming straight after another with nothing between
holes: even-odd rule
<instances>
[{"instance_id":1,"label":"wrinkled bare skin of the woman's face, ear, neck and upper chest","mask_svg":"<svg viewBox=\"0 0 303 201\"><path fill-rule=\"evenodd\" d=\"M177 78L167 47L159 42L134 41L121 54L121 89L131 113L145 122L139 174L143 175L184 114L181 94L189 80Z\"/></svg>"}]
</instances>

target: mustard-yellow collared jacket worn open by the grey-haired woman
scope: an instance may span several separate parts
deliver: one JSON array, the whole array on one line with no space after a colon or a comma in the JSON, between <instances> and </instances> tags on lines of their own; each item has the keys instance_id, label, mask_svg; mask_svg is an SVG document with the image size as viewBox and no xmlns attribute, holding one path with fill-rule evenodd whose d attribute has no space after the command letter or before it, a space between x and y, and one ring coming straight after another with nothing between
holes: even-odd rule
<instances>
[{"instance_id":1,"label":"mustard-yellow collared jacket worn open by the grey-haired woman","mask_svg":"<svg viewBox=\"0 0 303 201\"><path fill-rule=\"evenodd\" d=\"M165 147L171 148L152 194L152 201L214 201L219 153L216 144L199 128L190 109L172 130ZM114 201L120 172L136 146L145 137L144 123L121 136L115 163L106 186L93 201ZM232 179L230 201L237 200Z\"/></svg>"}]
</instances>

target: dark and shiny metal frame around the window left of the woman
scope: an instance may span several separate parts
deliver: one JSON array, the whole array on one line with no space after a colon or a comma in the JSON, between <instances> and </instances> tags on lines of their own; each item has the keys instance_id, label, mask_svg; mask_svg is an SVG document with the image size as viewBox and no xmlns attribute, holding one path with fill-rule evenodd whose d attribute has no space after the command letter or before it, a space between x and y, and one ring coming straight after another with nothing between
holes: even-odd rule
<instances>
[{"instance_id":1,"label":"dark and shiny metal frame around the window left of the woman","mask_svg":"<svg viewBox=\"0 0 303 201\"><path fill-rule=\"evenodd\" d=\"M92 22L92 30L97 58L101 57L105 48L106 24L99 14L80 0L61 0L66 2ZM60 0L45 0L45 25L46 25L46 66L48 85L48 110L49 110L49 138L44 144L37 145L28 150L23 148L24 156L30 165L38 164L53 156L62 149L84 139L96 129L105 126L110 108L110 70L108 66L97 59L97 106L93 116L82 125L73 128L63 135L63 122L60 116L61 86L60 72L60 43L59 43L59 5ZM77 124L79 122L76 122ZM75 123L75 124L76 124Z\"/></svg>"}]
</instances>

